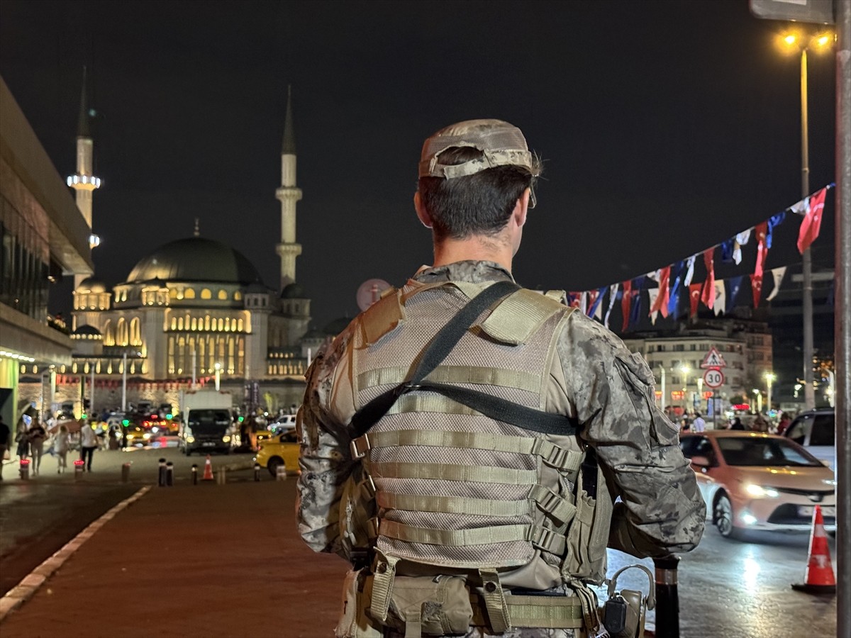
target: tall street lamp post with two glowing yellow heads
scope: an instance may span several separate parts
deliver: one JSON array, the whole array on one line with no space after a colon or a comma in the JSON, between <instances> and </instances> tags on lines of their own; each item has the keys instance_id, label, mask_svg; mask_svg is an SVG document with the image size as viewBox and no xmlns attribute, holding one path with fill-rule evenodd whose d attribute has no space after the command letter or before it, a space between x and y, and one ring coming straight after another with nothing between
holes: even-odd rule
<instances>
[{"instance_id":1,"label":"tall street lamp post with two glowing yellow heads","mask_svg":"<svg viewBox=\"0 0 851 638\"><path fill-rule=\"evenodd\" d=\"M809 195L809 137L807 101L807 51L823 51L831 46L835 37L830 32L808 34L790 31L780 37L780 47L786 51L801 52L801 197ZM804 407L815 407L813 385L813 260L807 248L801 255L802 310L803 310L803 401ZM768 406L771 409L771 406Z\"/></svg>"}]
</instances>

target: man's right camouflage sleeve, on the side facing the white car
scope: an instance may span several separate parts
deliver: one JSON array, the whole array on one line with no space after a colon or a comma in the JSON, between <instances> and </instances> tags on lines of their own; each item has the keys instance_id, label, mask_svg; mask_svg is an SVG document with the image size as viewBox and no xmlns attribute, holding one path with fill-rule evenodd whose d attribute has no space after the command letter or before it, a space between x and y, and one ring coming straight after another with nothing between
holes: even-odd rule
<instances>
[{"instance_id":1,"label":"man's right camouflage sleeve, on the side facing the white car","mask_svg":"<svg viewBox=\"0 0 851 638\"><path fill-rule=\"evenodd\" d=\"M642 356L580 313L557 343L568 399L597 451L615 504L609 547L638 557L693 550L706 508L677 427L655 405Z\"/></svg>"}]
</instances>

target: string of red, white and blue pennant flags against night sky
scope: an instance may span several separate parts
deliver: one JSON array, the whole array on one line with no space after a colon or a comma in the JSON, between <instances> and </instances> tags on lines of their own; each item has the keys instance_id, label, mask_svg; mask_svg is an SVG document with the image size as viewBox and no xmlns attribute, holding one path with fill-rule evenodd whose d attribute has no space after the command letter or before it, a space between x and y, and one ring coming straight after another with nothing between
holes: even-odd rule
<instances>
[{"instance_id":1,"label":"string of red, white and blue pennant flags against night sky","mask_svg":"<svg viewBox=\"0 0 851 638\"><path fill-rule=\"evenodd\" d=\"M659 315L665 318L677 316L677 309L683 294L688 295L688 316L690 317L697 315L700 304L713 310L716 315L720 315L722 312L728 314L736 305L741 288L744 288L746 283L751 285L753 307L757 308L762 299L762 281L765 273L770 273L774 286L765 299L766 301L771 301L780 292L780 285L786 273L786 266L773 268L769 271L765 271L764 268L766 259L768 259L768 250L772 245L774 229L785 221L788 214L801 217L797 248L798 252L803 254L819 236L821 218L825 208L825 195L834 186L835 184L826 185L799 202L795 202L789 208L785 208L780 213L751 226L746 231L736 233L725 242L705 248L699 253L694 253L687 259L648 272L646 275L603 286L603 288L569 292L568 305L574 306L586 315L603 322L608 328L609 317L614 305L620 300L620 309L623 314L621 332L627 332L636 327L644 315L644 292L647 293L648 299L647 316L650 317L654 325ZM742 247L751 241L754 241L757 245L757 259L753 272L717 280L715 278L717 249L721 249L721 262L723 264L740 265ZM705 266L706 277L703 282L692 282L694 264L699 259ZM656 282L658 287L647 288L650 281ZM608 302L603 303L607 293Z\"/></svg>"}]
</instances>

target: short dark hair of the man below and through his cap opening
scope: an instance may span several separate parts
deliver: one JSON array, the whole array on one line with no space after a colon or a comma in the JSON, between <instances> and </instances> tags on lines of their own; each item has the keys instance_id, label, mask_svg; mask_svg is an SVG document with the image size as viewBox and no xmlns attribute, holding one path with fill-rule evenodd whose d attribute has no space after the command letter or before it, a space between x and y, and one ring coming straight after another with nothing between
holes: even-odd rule
<instances>
[{"instance_id":1,"label":"short dark hair of the man below and through his cap opening","mask_svg":"<svg viewBox=\"0 0 851 638\"><path fill-rule=\"evenodd\" d=\"M483 157L482 151L469 146L449 148L440 155L441 162L451 165L478 157ZM534 182L523 168L497 166L453 179L421 177L419 191L439 242L495 235L508 223L523 191L534 187Z\"/></svg>"}]
</instances>

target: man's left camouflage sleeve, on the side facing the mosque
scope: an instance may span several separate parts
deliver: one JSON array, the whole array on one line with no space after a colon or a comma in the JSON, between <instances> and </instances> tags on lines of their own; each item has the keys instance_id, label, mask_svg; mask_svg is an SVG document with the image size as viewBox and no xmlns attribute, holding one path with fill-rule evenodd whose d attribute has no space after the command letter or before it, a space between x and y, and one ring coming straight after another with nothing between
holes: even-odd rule
<instances>
[{"instance_id":1,"label":"man's left camouflage sleeve, on the side facing the mosque","mask_svg":"<svg viewBox=\"0 0 851 638\"><path fill-rule=\"evenodd\" d=\"M340 495L351 473L351 437L348 419L340 418L335 402L347 403L345 390L349 362L346 345L349 333L342 333L323 356L307 371L305 397L296 424L300 439L295 508L299 533L311 550L340 554ZM342 398L341 398L342 397ZM351 416L351 406L342 413Z\"/></svg>"}]
</instances>

